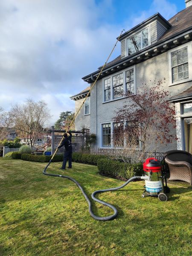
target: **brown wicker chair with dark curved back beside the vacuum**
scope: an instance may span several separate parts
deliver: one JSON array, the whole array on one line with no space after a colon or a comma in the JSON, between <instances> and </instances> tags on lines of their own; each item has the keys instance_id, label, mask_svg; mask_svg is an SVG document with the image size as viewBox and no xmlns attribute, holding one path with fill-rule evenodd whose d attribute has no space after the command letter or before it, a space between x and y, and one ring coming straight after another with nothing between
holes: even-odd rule
<instances>
[{"instance_id":1,"label":"brown wicker chair with dark curved back beside the vacuum","mask_svg":"<svg viewBox=\"0 0 192 256\"><path fill-rule=\"evenodd\" d=\"M182 180L192 185L192 154L183 150L172 150L165 155L170 171L169 180Z\"/></svg>"}]
</instances>

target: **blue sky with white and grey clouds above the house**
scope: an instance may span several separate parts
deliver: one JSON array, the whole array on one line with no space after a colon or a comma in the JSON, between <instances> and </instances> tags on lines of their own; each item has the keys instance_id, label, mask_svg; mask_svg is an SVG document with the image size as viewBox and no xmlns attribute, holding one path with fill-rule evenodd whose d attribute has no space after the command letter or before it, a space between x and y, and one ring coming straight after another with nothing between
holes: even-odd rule
<instances>
[{"instance_id":1,"label":"blue sky with white and grey clouds above the house","mask_svg":"<svg viewBox=\"0 0 192 256\"><path fill-rule=\"evenodd\" d=\"M0 107L44 100L54 124L74 111L69 97L89 85L81 78L105 63L122 29L184 8L184 0L0 0ZM109 61L118 55L120 43Z\"/></svg>"}]
</instances>

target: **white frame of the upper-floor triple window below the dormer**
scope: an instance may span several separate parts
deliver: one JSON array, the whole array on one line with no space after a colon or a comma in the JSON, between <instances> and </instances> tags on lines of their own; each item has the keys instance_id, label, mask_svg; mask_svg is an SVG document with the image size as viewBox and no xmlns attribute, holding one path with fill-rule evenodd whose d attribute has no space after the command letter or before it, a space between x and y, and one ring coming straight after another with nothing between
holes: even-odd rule
<instances>
[{"instance_id":1,"label":"white frame of the upper-floor triple window below the dormer","mask_svg":"<svg viewBox=\"0 0 192 256\"><path fill-rule=\"evenodd\" d=\"M128 70L131 70L131 69L134 70L134 93L131 94L131 96L136 94L136 68L135 68L135 65L134 65L134 66L128 67L128 68L125 69L125 70L121 70L121 71L119 71L119 72L116 72L116 73L114 73L114 74L111 74L110 76L104 77L104 78L102 79L102 98L103 98L103 99L102 99L102 100L103 100L102 103L103 103L103 104L104 104L104 103L107 103L107 102L112 102L112 101L115 101L115 100L119 100L119 99L124 99L124 98L125 98L125 96L122 96L122 97L113 99L113 76L116 76L116 75L119 75L120 73L123 73L123 91L124 91L124 93L126 93L127 88L126 88L125 72L128 71ZM111 87L110 87L110 89L111 89L111 99L108 100L108 101L105 101L104 80L105 80L105 79L108 79L108 78L111 79Z\"/></svg>"}]
</instances>

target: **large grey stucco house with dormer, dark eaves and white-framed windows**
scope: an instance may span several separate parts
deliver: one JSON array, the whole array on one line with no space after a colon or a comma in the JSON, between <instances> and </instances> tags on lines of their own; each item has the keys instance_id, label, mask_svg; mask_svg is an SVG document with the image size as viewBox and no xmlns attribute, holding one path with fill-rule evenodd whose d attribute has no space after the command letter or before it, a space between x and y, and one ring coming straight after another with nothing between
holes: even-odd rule
<instances>
[{"instance_id":1,"label":"large grey stucco house with dormer, dark eaves and white-framed windows","mask_svg":"<svg viewBox=\"0 0 192 256\"><path fill-rule=\"evenodd\" d=\"M89 116L83 108L76 118L77 130L86 124L96 134L96 149L113 148L114 114L130 102L123 92L136 94L143 83L165 78L163 86L176 107L177 128L172 132L178 141L159 145L158 151L192 152L192 0L185 2L186 9L170 20L157 13L119 38L121 55L106 65L91 91ZM100 70L82 79L92 85ZM76 111L89 89L71 97Z\"/></svg>"}]
</instances>

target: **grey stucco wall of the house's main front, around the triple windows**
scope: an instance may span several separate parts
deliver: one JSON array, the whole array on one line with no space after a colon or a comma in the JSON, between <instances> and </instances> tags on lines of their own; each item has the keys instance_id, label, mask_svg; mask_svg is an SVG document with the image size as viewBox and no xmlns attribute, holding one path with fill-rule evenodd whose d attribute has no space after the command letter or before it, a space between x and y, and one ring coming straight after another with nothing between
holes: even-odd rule
<instances>
[{"instance_id":1,"label":"grey stucco wall of the house's main front, around the triple windows","mask_svg":"<svg viewBox=\"0 0 192 256\"><path fill-rule=\"evenodd\" d=\"M169 90L170 96L177 95L178 93L186 90L192 86L192 82L186 82L169 86L169 72L168 72L168 53L164 52L153 58L145 60L135 66L136 71L136 91L144 84L153 86L154 79L157 81L160 79L166 79L164 88ZM101 123L112 121L118 108L123 105L129 104L130 98L119 99L112 102L102 103L102 79L97 81L96 86L93 88L90 95L90 132L96 134L97 145L96 148L100 148L101 137ZM176 129L172 131L176 134ZM177 141L170 143L169 145L159 144L156 148L157 151L165 152L168 150L177 149Z\"/></svg>"}]
</instances>

